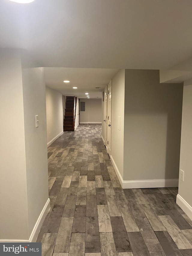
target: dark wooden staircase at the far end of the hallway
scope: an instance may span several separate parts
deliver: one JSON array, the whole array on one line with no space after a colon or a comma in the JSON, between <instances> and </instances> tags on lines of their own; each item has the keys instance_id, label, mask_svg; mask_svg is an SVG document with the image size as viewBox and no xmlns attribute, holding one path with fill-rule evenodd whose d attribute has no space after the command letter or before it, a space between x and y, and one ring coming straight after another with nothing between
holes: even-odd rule
<instances>
[{"instance_id":1,"label":"dark wooden staircase at the far end of the hallway","mask_svg":"<svg viewBox=\"0 0 192 256\"><path fill-rule=\"evenodd\" d=\"M77 101L77 98L75 96L66 96L65 115L64 115L64 122L63 122L64 131L75 130L76 101ZM74 105L75 105L75 115L74 115Z\"/></svg>"}]
</instances>

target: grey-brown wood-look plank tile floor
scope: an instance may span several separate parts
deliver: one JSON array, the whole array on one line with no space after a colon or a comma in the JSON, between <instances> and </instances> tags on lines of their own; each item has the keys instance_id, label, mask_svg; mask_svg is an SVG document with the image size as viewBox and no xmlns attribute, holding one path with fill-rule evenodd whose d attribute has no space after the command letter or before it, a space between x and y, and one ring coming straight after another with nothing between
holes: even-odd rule
<instances>
[{"instance_id":1,"label":"grey-brown wood-look plank tile floor","mask_svg":"<svg viewBox=\"0 0 192 256\"><path fill-rule=\"evenodd\" d=\"M192 221L178 188L122 189L101 125L79 125L48 148L51 208L43 256L192 255Z\"/></svg>"}]
</instances>

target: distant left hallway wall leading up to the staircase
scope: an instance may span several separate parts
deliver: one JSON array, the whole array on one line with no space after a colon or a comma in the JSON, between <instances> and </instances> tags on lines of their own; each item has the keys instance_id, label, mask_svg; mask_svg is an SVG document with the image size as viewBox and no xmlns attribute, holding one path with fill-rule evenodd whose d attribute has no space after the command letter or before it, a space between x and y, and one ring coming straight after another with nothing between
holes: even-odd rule
<instances>
[{"instance_id":1,"label":"distant left hallway wall leading up to the staircase","mask_svg":"<svg viewBox=\"0 0 192 256\"><path fill-rule=\"evenodd\" d=\"M46 86L47 143L63 131L62 94ZM49 143L50 144L50 143Z\"/></svg>"}]
</instances>

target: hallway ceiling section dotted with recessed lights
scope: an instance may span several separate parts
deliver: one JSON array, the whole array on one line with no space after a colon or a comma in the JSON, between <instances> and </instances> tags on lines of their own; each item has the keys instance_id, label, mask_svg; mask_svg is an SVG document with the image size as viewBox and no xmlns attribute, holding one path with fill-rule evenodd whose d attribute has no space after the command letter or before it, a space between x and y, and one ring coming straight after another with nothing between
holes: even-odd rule
<instances>
[{"instance_id":1,"label":"hallway ceiling section dotted with recessed lights","mask_svg":"<svg viewBox=\"0 0 192 256\"><path fill-rule=\"evenodd\" d=\"M88 92L90 98L101 98L101 92L117 72L118 69L107 68L45 68L45 82L63 95L87 98L85 92ZM64 80L70 83L64 83Z\"/></svg>"}]
</instances>

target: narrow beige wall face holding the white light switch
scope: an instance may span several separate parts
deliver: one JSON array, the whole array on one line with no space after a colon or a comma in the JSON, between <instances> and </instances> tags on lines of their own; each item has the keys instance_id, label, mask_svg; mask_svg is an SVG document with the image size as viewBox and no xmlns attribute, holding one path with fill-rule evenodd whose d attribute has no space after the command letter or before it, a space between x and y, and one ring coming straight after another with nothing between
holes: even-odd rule
<instances>
[{"instance_id":1,"label":"narrow beige wall face holding the white light switch","mask_svg":"<svg viewBox=\"0 0 192 256\"><path fill-rule=\"evenodd\" d=\"M44 68L22 66L29 236L49 198ZM39 127L35 127L38 115ZM37 200L38 199L38 200Z\"/></svg>"}]
</instances>

